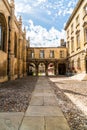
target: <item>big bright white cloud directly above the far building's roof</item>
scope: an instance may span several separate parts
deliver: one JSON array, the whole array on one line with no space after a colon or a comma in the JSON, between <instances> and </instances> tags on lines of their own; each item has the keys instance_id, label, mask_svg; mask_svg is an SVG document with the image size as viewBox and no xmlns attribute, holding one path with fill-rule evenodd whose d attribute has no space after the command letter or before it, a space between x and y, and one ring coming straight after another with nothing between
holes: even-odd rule
<instances>
[{"instance_id":1,"label":"big bright white cloud directly above the far building's roof","mask_svg":"<svg viewBox=\"0 0 87 130\"><path fill-rule=\"evenodd\" d=\"M65 31L58 31L52 27L49 31L42 26L35 26L32 20L29 20L27 37L30 37L31 46L57 47L60 45L60 39L65 37Z\"/></svg>"}]
</instances>

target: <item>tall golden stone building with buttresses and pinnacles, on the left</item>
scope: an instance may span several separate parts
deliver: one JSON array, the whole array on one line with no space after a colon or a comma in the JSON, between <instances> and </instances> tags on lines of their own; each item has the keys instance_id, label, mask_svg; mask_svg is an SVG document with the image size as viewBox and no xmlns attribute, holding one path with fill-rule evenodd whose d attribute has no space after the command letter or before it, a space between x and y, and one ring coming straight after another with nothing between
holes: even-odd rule
<instances>
[{"instance_id":1,"label":"tall golden stone building with buttresses and pinnacles, on the left","mask_svg":"<svg viewBox=\"0 0 87 130\"><path fill-rule=\"evenodd\" d=\"M26 30L14 11L14 0L0 0L0 82L26 75Z\"/></svg>"}]
</instances>

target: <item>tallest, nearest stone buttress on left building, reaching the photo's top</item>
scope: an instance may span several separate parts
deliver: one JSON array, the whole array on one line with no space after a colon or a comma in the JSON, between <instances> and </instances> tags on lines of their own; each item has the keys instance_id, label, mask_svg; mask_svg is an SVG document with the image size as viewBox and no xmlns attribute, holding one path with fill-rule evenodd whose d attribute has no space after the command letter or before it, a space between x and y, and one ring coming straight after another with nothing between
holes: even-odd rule
<instances>
[{"instance_id":1,"label":"tallest, nearest stone buttress on left building, reaching the photo's top","mask_svg":"<svg viewBox=\"0 0 87 130\"><path fill-rule=\"evenodd\" d=\"M11 16L10 16L10 23L9 23L9 80L14 79L14 0L11 0L10 9L11 9Z\"/></svg>"}]
</instances>

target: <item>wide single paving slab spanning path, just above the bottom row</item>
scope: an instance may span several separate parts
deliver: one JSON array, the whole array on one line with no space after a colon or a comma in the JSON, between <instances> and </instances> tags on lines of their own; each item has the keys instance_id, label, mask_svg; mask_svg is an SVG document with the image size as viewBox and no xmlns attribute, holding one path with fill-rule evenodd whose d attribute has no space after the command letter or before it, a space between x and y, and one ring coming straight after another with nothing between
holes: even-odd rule
<instances>
[{"instance_id":1,"label":"wide single paving slab spanning path, just above the bottom row","mask_svg":"<svg viewBox=\"0 0 87 130\"><path fill-rule=\"evenodd\" d=\"M25 116L63 116L57 106L29 106Z\"/></svg>"}]
</instances>

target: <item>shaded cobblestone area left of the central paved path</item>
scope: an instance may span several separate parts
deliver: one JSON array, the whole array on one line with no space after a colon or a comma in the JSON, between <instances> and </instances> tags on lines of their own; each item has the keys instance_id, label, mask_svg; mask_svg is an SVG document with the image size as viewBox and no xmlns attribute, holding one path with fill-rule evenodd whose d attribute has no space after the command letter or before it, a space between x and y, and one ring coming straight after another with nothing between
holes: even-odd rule
<instances>
[{"instance_id":1,"label":"shaded cobblestone area left of the central paved path","mask_svg":"<svg viewBox=\"0 0 87 130\"><path fill-rule=\"evenodd\" d=\"M25 112L37 77L27 77L0 84L0 112Z\"/></svg>"}]
</instances>

